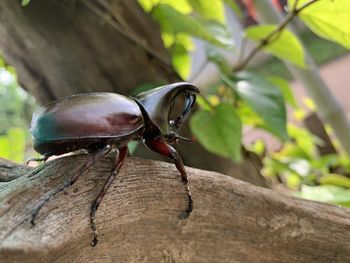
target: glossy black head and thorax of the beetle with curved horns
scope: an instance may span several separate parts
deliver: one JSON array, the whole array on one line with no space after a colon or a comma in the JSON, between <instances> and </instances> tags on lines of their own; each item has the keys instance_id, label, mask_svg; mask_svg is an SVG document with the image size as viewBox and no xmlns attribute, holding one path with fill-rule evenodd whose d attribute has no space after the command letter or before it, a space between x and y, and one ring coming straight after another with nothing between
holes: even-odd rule
<instances>
[{"instance_id":1,"label":"glossy black head and thorax of the beetle with curved horns","mask_svg":"<svg viewBox=\"0 0 350 263\"><path fill-rule=\"evenodd\" d=\"M176 137L194 106L196 93L199 93L199 90L193 84L179 82L140 93L133 98L147 116L146 122L158 132L153 135ZM173 112L174 104L177 99L181 100L181 97L184 98L183 109L176 116Z\"/></svg>"}]
</instances>

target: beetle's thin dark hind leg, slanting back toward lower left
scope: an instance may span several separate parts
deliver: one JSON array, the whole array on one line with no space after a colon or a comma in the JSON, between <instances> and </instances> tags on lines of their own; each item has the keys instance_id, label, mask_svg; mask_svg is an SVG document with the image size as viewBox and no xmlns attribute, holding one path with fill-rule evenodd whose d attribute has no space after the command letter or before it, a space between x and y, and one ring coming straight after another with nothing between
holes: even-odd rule
<instances>
[{"instance_id":1,"label":"beetle's thin dark hind leg, slanting back toward lower left","mask_svg":"<svg viewBox=\"0 0 350 263\"><path fill-rule=\"evenodd\" d=\"M100 157L108 154L111 150L112 150L112 146L106 145L104 148L96 151L94 153L94 155L92 156L92 158L90 160L86 161L84 163L84 165L79 169L79 171L71 179L65 181L61 187L57 188L52 193L50 193L35 209L32 210L32 212L31 212L32 218L30 220L31 224L35 225L36 216L38 215L41 208L51 199L51 197L53 197L57 193L63 191L64 189L71 186L72 184L74 184L78 180L78 178L84 173L84 171L89 169L89 167L91 165L93 165L95 163L95 161L97 161Z\"/></svg>"}]
</instances>

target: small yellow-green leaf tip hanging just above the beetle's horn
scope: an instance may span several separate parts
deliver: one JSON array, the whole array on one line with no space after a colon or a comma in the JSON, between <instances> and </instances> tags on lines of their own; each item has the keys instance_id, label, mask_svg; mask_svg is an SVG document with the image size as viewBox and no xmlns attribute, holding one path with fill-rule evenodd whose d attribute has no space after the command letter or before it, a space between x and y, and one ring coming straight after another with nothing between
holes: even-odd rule
<instances>
[{"instance_id":1,"label":"small yellow-green leaf tip hanging just above the beetle's horn","mask_svg":"<svg viewBox=\"0 0 350 263\"><path fill-rule=\"evenodd\" d=\"M186 48L175 44L170 48L171 62L183 79L186 79L191 69L191 57Z\"/></svg>"}]
</instances>

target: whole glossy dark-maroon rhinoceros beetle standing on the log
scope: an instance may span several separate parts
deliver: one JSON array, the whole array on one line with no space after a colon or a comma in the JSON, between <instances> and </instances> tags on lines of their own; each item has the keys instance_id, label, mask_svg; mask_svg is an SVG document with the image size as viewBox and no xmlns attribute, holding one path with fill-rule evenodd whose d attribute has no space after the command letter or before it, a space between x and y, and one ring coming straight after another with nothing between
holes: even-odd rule
<instances>
[{"instance_id":1,"label":"whole glossy dark-maroon rhinoceros beetle standing on the log","mask_svg":"<svg viewBox=\"0 0 350 263\"><path fill-rule=\"evenodd\" d=\"M91 159L32 211L32 224L52 196L74 184L97 159L115 149L111 174L91 207L94 233L91 245L95 246L98 242L97 208L118 174L127 156L127 143L131 140L142 140L152 151L174 161L188 195L187 209L180 218L187 218L193 209L187 173L180 155L170 144L186 139L178 134L178 130L194 106L198 92L191 83L179 82L132 97L107 92L83 93L51 102L34 113L31 123L34 149L43 157L32 160L46 161L50 156L77 150L87 151ZM174 101L179 95L185 95L184 107L179 116L171 119Z\"/></svg>"}]
</instances>

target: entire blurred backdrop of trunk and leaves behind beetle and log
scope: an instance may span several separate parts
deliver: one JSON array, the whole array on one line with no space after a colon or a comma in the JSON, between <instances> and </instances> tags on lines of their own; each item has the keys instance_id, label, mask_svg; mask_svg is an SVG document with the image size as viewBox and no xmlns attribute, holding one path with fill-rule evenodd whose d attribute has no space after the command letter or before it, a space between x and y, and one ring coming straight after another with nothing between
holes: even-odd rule
<instances>
[{"instance_id":1,"label":"entire blurred backdrop of trunk and leaves behind beetle and log","mask_svg":"<svg viewBox=\"0 0 350 263\"><path fill-rule=\"evenodd\" d=\"M2 1L0 157L37 156L30 120L49 101L187 80L201 90L187 165L349 206L350 34L334 28L350 17L334 14L350 7L330 2Z\"/></svg>"}]
</instances>

